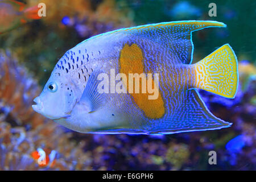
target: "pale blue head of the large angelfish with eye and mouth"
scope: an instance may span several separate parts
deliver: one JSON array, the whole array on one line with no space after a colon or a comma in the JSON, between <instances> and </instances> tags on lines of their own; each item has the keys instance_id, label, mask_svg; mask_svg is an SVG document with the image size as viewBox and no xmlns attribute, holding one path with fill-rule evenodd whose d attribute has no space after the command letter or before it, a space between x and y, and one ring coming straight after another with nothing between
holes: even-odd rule
<instances>
[{"instance_id":1,"label":"pale blue head of the large angelfish with eye and mouth","mask_svg":"<svg viewBox=\"0 0 256 182\"><path fill-rule=\"evenodd\" d=\"M49 119L68 118L76 101L75 85L65 75L53 71L32 108Z\"/></svg>"}]
</instances>

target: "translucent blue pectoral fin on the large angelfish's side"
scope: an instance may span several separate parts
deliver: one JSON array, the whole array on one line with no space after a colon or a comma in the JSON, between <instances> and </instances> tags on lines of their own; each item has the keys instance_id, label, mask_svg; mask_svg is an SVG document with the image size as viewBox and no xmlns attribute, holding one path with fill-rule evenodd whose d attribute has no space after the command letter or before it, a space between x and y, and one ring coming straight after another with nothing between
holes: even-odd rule
<instances>
[{"instance_id":1,"label":"translucent blue pectoral fin on the large angelfish's side","mask_svg":"<svg viewBox=\"0 0 256 182\"><path fill-rule=\"evenodd\" d=\"M98 84L101 82L97 79L100 71L93 71L89 76L88 82L86 83L84 92L80 99L80 104L86 107L88 113L96 111L103 103L104 97L102 93L98 92Z\"/></svg>"}]
</instances>

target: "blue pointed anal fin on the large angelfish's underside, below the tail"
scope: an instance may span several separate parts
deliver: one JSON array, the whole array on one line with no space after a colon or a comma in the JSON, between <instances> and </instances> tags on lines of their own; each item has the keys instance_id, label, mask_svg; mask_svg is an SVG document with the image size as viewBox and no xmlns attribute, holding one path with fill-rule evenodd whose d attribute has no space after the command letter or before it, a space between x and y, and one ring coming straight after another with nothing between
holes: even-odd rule
<instances>
[{"instance_id":1,"label":"blue pointed anal fin on the large angelfish's underside, below the tail","mask_svg":"<svg viewBox=\"0 0 256 182\"><path fill-rule=\"evenodd\" d=\"M160 125L158 123L161 123ZM154 121L147 130L150 134L174 134L188 131L216 130L231 126L232 123L215 117L201 100L195 89L185 93L185 100L174 114L164 118L163 122Z\"/></svg>"}]
</instances>

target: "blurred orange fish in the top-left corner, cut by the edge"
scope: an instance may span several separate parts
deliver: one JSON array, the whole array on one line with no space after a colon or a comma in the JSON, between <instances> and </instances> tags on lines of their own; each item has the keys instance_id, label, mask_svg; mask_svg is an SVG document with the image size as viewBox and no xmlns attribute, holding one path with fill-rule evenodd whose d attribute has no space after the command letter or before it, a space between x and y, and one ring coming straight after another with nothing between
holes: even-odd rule
<instances>
[{"instance_id":1,"label":"blurred orange fish in the top-left corner, cut by the edge","mask_svg":"<svg viewBox=\"0 0 256 182\"><path fill-rule=\"evenodd\" d=\"M0 34L13 30L29 19L40 19L38 6L29 7L15 0L0 0Z\"/></svg>"}]
</instances>

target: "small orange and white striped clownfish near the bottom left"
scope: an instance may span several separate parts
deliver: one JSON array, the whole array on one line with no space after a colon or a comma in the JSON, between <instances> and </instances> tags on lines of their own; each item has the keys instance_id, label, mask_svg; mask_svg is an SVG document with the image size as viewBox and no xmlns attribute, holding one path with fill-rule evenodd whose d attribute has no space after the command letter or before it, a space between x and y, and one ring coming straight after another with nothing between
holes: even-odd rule
<instances>
[{"instance_id":1,"label":"small orange and white striped clownfish near the bottom left","mask_svg":"<svg viewBox=\"0 0 256 182\"><path fill-rule=\"evenodd\" d=\"M47 149L43 150L38 148L38 150L31 152L31 157L37 160L39 167L53 167L56 160L56 151L52 150L51 152Z\"/></svg>"}]
</instances>

